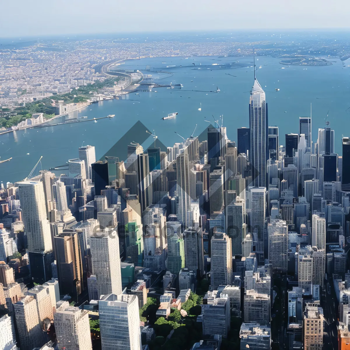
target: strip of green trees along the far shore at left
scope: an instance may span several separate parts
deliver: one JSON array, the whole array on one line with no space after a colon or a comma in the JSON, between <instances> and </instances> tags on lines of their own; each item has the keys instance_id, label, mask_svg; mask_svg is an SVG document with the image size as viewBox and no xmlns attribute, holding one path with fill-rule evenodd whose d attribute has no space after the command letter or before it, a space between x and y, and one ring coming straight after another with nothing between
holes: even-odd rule
<instances>
[{"instance_id":1,"label":"strip of green trees along the far shore at left","mask_svg":"<svg viewBox=\"0 0 350 350\"><path fill-rule=\"evenodd\" d=\"M86 102L93 93L97 93L104 87L113 87L119 77L108 78L103 81L95 80L94 84L79 86L69 93L45 97L41 100L27 103L25 106L18 106L10 111L8 108L0 107L0 127L12 127L18 125L21 121L31 118L34 113L44 113L46 119L55 116L56 107L52 106L53 102L64 101L64 103ZM22 91L23 94L24 91Z\"/></svg>"}]
</instances>

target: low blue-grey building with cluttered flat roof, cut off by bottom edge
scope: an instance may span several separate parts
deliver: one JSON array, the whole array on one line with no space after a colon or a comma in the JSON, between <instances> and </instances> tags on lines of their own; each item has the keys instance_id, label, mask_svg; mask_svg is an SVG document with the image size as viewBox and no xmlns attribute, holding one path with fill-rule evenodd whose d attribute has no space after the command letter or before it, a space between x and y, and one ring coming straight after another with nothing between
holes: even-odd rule
<instances>
[{"instance_id":1,"label":"low blue-grey building with cluttered flat roof, cut off by bottom edge","mask_svg":"<svg viewBox=\"0 0 350 350\"><path fill-rule=\"evenodd\" d=\"M271 327L256 322L242 323L239 331L240 349L271 349Z\"/></svg>"}]
</instances>

